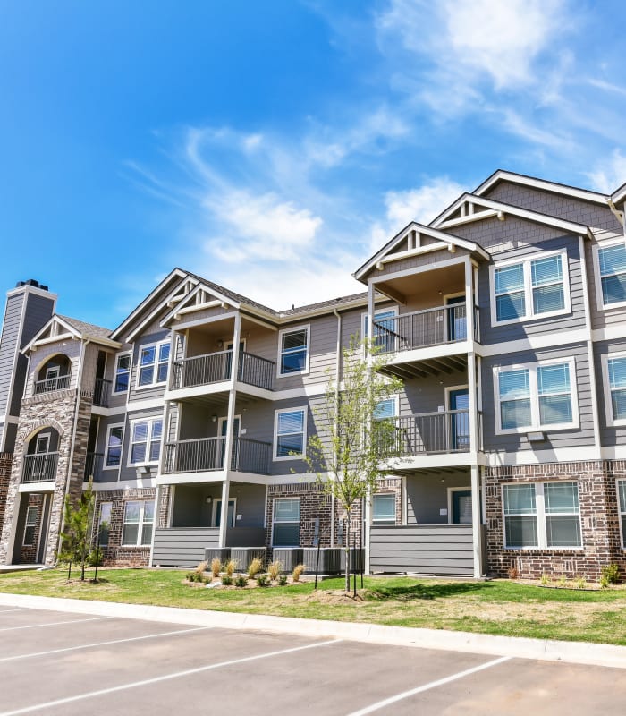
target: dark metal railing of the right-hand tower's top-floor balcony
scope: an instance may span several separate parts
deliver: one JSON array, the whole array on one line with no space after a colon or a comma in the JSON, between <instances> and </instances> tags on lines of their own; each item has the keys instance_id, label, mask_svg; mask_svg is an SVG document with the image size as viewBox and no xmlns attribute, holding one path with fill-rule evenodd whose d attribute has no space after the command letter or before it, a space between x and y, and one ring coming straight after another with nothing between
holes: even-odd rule
<instances>
[{"instance_id":1,"label":"dark metal railing of the right-hand tower's top-floor balcony","mask_svg":"<svg viewBox=\"0 0 626 716\"><path fill-rule=\"evenodd\" d=\"M468 337L465 303L402 313L374 321L374 345L380 353L410 351Z\"/></svg>"}]
</instances>

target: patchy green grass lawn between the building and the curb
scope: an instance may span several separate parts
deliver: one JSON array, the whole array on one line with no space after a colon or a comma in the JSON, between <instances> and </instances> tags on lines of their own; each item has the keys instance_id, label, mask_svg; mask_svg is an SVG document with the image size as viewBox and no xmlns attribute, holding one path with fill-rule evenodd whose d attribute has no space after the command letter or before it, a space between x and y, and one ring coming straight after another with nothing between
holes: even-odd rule
<instances>
[{"instance_id":1,"label":"patchy green grass lawn between the building and the curb","mask_svg":"<svg viewBox=\"0 0 626 716\"><path fill-rule=\"evenodd\" d=\"M89 576L91 572L89 572ZM422 626L481 634L626 645L626 588L546 589L507 580L461 582L372 577L363 599L343 596L343 579L267 589L204 589L184 571L101 569L99 584L66 581L65 569L0 575L0 592L125 601L166 607Z\"/></svg>"}]
</instances>

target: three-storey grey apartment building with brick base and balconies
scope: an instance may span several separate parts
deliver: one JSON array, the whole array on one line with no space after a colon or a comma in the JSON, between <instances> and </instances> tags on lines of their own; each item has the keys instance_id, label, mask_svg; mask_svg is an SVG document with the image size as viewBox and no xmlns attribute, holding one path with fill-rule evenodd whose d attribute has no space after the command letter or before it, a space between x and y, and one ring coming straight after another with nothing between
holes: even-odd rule
<instances>
[{"instance_id":1,"label":"three-storey grey apartment building with brick base and balconies","mask_svg":"<svg viewBox=\"0 0 626 716\"><path fill-rule=\"evenodd\" d=\"M370 257L362 294L289 311L176 268L110 331L18 286L0 562L53 563L89 477L110 563L342 544L301 456L359 333L404 381L380 406L397 454L354 512L368 571L626 570L625 201L497 171Z\"/></svg>"}]
</instances>

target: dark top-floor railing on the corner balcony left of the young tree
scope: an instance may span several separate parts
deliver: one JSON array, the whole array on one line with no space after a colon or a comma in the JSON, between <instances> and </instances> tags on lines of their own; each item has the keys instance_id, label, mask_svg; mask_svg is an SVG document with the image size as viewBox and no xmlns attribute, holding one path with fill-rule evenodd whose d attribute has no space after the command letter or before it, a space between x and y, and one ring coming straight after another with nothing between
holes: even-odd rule
<instances>
[{"instance_id":1,"label":"dark top-floor railing on the corner balcony left of the young tree","mask_svg":"<svg viewBox=\"0 0 626 716\"><path fill-rule=\"evenodd\" d=\"M230 380L233 371L233 351L219 351L194 355L173 363L171 388L193 388ZM241 351L237 379L257 388L271 390L274 384L275 362Z\"/></svg>"}]
</instances>

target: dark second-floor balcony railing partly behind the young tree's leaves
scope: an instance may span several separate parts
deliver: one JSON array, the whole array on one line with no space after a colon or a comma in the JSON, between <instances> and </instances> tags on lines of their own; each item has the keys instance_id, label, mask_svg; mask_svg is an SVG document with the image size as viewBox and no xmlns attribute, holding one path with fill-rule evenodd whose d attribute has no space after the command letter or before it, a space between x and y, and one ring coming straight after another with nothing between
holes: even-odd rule
<instances>
[{"instance_id":1,"label":"dark second-floor balcony railing partly behind the young tree's leaves","mask_svg":"<svg viewBox=\"0 0 626 716\"><path fill-rule=\"evenodd\" d=\"M375 439L381 457L469 452L469 410L421 413L380 421ZM478 432L481 415L478 413ZM480 445L480 435L478 435Z\"/></svg>"}]
</instances>

